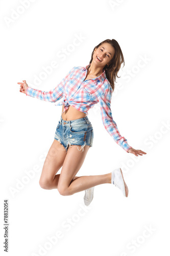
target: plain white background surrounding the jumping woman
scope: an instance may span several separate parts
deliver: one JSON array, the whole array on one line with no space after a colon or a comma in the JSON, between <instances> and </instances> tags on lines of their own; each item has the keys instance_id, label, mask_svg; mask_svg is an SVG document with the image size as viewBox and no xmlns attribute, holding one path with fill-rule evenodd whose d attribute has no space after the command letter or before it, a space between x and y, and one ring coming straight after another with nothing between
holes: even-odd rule
<instances>
[{"instance_id":1,"label":"plain white background surrounding the jumping woman","mask_svg":"<svg viewBox=\"0 0 170 256\"><path fill-rule=\"evenodd\" d=\"M10 256L169 254L168 1L1 0L0 5L1 255L7 255L4 199L9 200ZM73 45L76 36L82 38L79 46ZM122 167L129 197L102 184L85 208L84 191L64 197L39 186L62 106L27 97L17 82L54 89L72 67L88 65L96 45L112 38L125 58L112 116L128 143L147 155L127 154L105 130L99 108L91 109L93 146L78 176ZM61 58L63 49L67 54ZM37 86L35 77L54 60L58 67Z\"/></svg>"}]
</instances>

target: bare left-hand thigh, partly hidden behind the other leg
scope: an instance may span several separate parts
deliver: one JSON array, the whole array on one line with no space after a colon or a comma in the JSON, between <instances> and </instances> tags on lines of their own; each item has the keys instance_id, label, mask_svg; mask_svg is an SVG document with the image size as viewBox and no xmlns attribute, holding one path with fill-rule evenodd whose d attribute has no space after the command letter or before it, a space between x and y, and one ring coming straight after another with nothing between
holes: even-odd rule
<instances>
[{"instance_id":1,"label":"bare left-hand thigh, partly hidden behind the other leg","mask_svg":"<svg viewBox=\"0 0 170 256\"><path fill-rule=\"evenodd\" d=\"M66 155L67 152L64 146L59 141L54 140L44 161L40 184L50 183L54 180L56 173L63 165Z\"/></svg>"}]
</instances>

